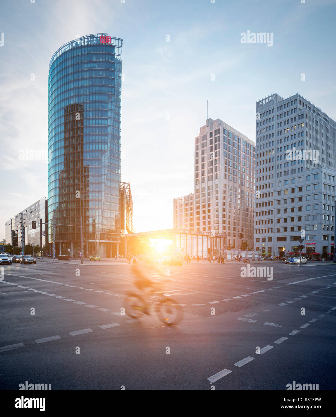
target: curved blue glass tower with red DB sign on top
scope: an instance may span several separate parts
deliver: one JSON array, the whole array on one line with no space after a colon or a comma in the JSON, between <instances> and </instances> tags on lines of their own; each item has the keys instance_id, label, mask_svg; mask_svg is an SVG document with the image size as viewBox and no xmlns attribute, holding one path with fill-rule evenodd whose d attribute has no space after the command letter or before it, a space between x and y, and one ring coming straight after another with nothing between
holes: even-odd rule
<instances>
[{"instance_id":1,"label":"curved blue glass tower with red DB sign on top","mask_svg":"<svg viewBox=\"0 0 336 417\"><path fill-rule=\"evenodd\" d=\"M121 48L107 33L87 35L49 65L48 222L83 216L85 256L114 256L120 242ZM55 226L55 249L78 254L80 228Z\"/></svg>"}]
</instances>

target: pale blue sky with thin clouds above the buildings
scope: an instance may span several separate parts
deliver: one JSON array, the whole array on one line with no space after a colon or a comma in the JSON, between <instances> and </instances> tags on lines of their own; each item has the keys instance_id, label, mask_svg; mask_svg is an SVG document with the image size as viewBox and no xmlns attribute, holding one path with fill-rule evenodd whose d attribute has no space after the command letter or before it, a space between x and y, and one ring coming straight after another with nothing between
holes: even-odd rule
<instances>
[{"instance_id":1,"label":"pale blue sky with thin clouds above the buildings","mask_svg":"<svg viewBox=\"0 0 336 417\"><path fill-rule=\"evenodd\" d=\"M207 100L210 118L253 141L255 102L273 92L336 118L335 12L334 0L1 0L0 239L5 221L47 195L46 162L19 152L47 148L48 66L61 45L124 39L121 179L136 231L155 230L172 227L172 198L194 191ZM273 33L273 46L241 43L248 30Z\"/></svg>"}]
</instances>

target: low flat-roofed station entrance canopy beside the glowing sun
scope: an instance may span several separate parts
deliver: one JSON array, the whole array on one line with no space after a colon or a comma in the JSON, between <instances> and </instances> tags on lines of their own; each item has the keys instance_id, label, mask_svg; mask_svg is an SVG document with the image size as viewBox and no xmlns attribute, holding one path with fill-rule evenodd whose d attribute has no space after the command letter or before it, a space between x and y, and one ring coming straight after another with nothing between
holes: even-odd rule
<instances>
[{"instance_id":1,"label":"low flat-roofed station entrance canopy beside the glowing sun","mask_svg":"<svg viewBox=\"0 0 336 417\"><path fill-rule=\"evenodd\" d=\"M187 229L163 229L147 232L129 233L125 237L144 237L148 239L169 239L173 242L173 253L190 256L222 255L227 235L215 232L201 232Z\"/></svg>"}]
</instances>

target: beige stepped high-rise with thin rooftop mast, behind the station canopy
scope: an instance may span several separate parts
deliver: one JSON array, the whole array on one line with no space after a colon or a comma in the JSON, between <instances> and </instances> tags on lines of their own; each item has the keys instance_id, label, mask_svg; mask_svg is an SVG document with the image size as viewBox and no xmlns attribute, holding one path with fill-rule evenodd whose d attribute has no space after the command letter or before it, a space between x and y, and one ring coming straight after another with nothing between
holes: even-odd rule
<instances>
[{"instance_id":1,"label":"beige stepped high-rise with thin rooftop mast, behind the station canopy","mask_svg":"<svg viewBox=\"0 0 336 417\"><path fill-rule=\"evenodd\" d=\"M252 249L254 175L255 143L207 119L195 138L195 193L174 198L173 227L225 234L222 249Z\"/></svg>"}]
</instances>

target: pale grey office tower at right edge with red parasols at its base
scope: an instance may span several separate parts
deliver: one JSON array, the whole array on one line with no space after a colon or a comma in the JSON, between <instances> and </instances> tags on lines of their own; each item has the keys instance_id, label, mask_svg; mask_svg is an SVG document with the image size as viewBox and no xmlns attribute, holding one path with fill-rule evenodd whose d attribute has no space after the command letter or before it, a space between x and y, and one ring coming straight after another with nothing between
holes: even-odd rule
<instances>
[{"instance_id":1,"label":"pale grey office tower at right edge with red parasols at its base","mask_svg":"<svg viewBox=\"0 0 336 417\"><path fill-rule=\"evenodd\" d=\"M255 249L333 253L336 122L306 98L256 103ZM301 231L303 232L301 233Z\"/></svg>"}]
</instances>

